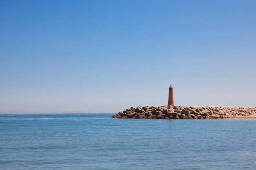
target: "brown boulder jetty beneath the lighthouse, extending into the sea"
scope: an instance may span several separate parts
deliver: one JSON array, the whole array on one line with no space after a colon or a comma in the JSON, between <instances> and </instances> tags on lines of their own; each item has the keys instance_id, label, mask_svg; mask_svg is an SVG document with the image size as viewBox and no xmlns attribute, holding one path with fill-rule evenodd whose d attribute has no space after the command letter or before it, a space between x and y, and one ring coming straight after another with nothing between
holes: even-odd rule
<instances>
[{"instance_id":1,"label":"brown boulder jetty beneath the lighthouse, extending into the sea","mask_svg":"<svg viewBox=\"0 0 256 170\"><path fill-rule=\"evenodd\" d=\"M112 116L133 119L223 119L256 117L256 107L227 106L138 106Z\"/></svg>"}]
</instances>

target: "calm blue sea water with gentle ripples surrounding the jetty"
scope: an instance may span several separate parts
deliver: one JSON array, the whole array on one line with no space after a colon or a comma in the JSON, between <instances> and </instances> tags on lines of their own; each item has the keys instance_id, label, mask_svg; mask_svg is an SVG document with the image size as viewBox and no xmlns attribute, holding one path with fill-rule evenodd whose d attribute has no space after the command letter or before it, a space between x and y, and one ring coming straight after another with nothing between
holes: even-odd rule
<instances>
[{"instance_id":1,"label":"calm blue sea water with gentle ripples surrounding the jetty","mask_svg":"<svg viewBox=\"0 0 256 170\"><path fill-rule=\"evenodd\" d=\"M254 170L256 119L0 115L0 170Z\"/></svg>"}]
</instances>

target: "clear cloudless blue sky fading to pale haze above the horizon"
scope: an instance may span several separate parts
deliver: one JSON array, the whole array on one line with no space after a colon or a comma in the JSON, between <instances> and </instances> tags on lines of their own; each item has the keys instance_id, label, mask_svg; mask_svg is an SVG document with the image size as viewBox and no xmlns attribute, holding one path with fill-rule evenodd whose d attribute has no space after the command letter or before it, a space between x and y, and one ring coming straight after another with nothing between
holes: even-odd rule
<instances>
[{"instance_id":1,"label":"clear cloudless blue sky fading to pale haze above the horizon","mask_svg":"<svg viewBox=\"0 0 256 170\"><path fill-rule=\"evenodd\" d=\"M0 113L256 106L255 0L0 0Z\"/></svg>"}]
</instances>

